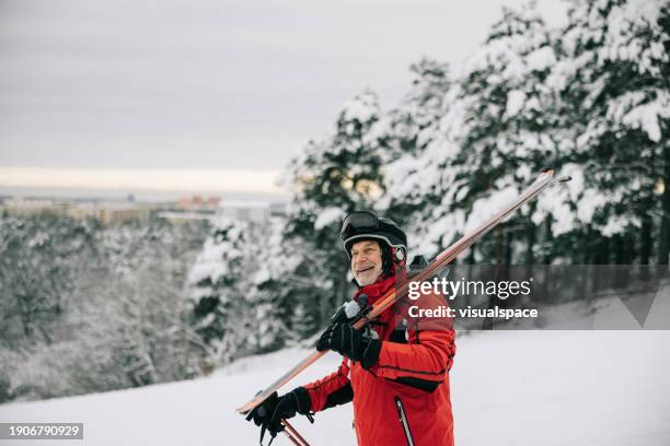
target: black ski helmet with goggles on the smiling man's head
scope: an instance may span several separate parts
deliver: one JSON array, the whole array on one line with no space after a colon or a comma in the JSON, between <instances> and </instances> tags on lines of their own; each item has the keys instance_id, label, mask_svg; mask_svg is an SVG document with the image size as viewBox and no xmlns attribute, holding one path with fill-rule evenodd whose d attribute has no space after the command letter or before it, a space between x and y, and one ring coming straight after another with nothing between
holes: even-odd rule
<instances>
[{"instance_id":1,"label":"black ski helmet with goggles on the smiling man's head","mask_svg":"<svg viewBox=\"0 0 670 446\"><path fill-rule=\"evenodd\" d=\"M372 212L354 211L342 222L339 236L351 261L351 246L357 242L377 240L382 250L382 273L388 275L394 263L407 258L407 236L395 222Z\"/></svg>"}]
</instances>

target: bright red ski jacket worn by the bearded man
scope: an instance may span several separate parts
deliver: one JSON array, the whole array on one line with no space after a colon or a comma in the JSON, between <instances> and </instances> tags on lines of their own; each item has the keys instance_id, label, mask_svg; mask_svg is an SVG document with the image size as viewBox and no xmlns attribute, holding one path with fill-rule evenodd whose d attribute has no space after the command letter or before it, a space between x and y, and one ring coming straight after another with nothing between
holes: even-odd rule
<instances>
[{"instance_id":1,"label":"bright red ski jacket worn by the bearded man","mask_svg":"<svg viewBox=\"0 0 670 446\"><path fill-rule=\"evenodd\" d=\"M395 277L360 289L373 304L395 283ZM430 297L430 296L429 296ZM424 301L426 302L426 301ZM304 386L314 412L354 402L354 423L360 446L453 445L449 369L455 353L454 332L409 322L396 304L374 325L382 341L379 362L370 369L344 357L337 372ZM406 319L405 319L406 320ZM414 327L414 328L413 328Z\"/></svg>"}]
</instances>

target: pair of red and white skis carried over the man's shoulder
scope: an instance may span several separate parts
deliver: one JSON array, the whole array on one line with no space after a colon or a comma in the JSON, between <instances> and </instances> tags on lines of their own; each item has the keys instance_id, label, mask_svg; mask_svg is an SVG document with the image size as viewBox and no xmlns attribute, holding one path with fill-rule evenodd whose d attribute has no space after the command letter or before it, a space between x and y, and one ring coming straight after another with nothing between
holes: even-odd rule
<instances>
[{"instance_id":1,"label":"pair of red and white skis carried over the man's shoulder","mask_svg":"<svg viewBox=\"0 0 670 446\"><path fill-rule=\"evenodd\" d=\"M498 213L493 215L488 221L484 222L481 226L474 230L472 233L466 234L461 239L455 242L453 245L444 249L436 259L428 265L424 270L421 270L418 274L412 278L412 281L421 282L425 280L429 280L437 272L442 270L449 262L455 259L461 253L475 244L480 238L489 233L494 227L500 224L507 216L513 213L516 210L521 208L524 203L538 197L543 190L558 184L569 181L570 177L556 177L554 176L554 171L551 168L544 169L538 179L521 195L500 210ZM368 322L378 317L381 313L390 308L393 304L395 304L401 298L407 295L407 291L409 287L409 281L406 280L403 283L400 283L394 289L388 291L378 302L376 302L371 309L362 315L359 319L353 322L353 327L357 330L363 328ZM247 413L249 411L255 409L258 404L265 401L273 392L277 391L280 387L286 385L289 380L294 378L298 374L304 371L307 367L312 365L316 360L323 356L326 352L314 352L305 357L303 361L298 363L293 368L288 371L286 374L281 375L276 382L270 384L266 389L262 392L257 394L254 398L252 398L246 403L240 406L235 409L240 413ZM285 425L289 426L286 421ZM292 430L294 432L294 430ZM296 433L297 434L297 433ZM298 435L299 436L299 435ZM302 437L300 437L302 438ZM304 441L303 441L304 442ZM299 444L299 443L294 443ZM303 443L307 445L307 442Z\"/></svg>"}]
</instances>

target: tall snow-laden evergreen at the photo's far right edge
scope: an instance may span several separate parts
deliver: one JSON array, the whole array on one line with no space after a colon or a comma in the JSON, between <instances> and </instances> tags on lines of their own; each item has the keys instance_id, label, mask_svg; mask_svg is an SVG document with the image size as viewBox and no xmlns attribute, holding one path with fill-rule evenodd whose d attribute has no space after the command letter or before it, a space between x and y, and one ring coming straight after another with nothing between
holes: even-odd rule
<instances>
[{"instance_id":1,"label":"tall snow-laden evergreen at the photo's far right edge","mask_svg":"<svg viewBox=\"0 0 670 446\"><path fill-rule=\"evenodd\" d=\"M635 256L647 263L658 237L657 260L668 262L668 10L665 0L593 0L569 10L562 36L567 58L556 70L575 107L585 190L594 190L582 198L596 208L584 234L589 261L625 263ZM625 254L625 245L638 254Z\"/></svg>"}]
</instances>

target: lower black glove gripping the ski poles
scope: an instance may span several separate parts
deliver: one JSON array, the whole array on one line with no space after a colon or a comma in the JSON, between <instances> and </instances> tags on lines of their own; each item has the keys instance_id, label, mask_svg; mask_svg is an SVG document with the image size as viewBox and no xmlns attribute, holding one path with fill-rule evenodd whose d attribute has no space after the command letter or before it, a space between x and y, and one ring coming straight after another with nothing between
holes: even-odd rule
<instances>
[{"instance_id":1,"label":"lower black glove gripping the ski poles","mask_svg":"<svg viewBox=\"0 0 670 446\"><path fill-rule=\"evenodd\" d=\"M246 420L253 420L261 427L261 444L267 430L275 438L277 433L284 431L281 420L296 416L296 412L308 415L310 422L313 418L310 413L311 399L304 387L297 387L288 394L278 397L277 392L270 395L262 404L249 412ZM272 443L272 441L270 441Z\"/></svg>"}]
</instances>

